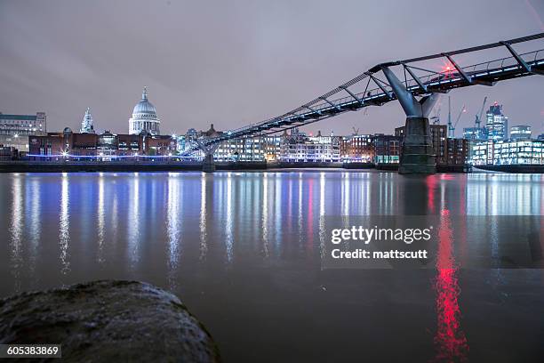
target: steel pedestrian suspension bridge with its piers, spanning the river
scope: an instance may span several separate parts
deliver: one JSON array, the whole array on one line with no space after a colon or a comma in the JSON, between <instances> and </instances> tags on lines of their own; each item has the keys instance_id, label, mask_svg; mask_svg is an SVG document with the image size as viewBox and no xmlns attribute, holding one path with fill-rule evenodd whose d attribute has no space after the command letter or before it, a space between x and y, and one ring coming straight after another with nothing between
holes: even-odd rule
<instances>
[{"instance_id":1,"label":"steel pedestrian suspension bridge with its piers, spanning the river","mask_svg":"<svg viewBox=\"0 0 544 363\"><path fill-rule=\"evenodd\" d=\"M215 170L213 153L222 141L279 133L345 112L399 101L406 115L399 173L436 173L428 116L440 95L454 88L492 86L508 79L544 75L543 39L544 33L540 33L451 52L380 63L280 116L224 133L204 133L184 155L189 156L202 150L203 170L212 172ZM522 46L529 46L533 50L516 50ZM496 48L508 56L490 60L490 53L492 50L496 52ZM456 59L461 54L484 61L468 66L460 65Z\"/></svg>"}]
</instances>

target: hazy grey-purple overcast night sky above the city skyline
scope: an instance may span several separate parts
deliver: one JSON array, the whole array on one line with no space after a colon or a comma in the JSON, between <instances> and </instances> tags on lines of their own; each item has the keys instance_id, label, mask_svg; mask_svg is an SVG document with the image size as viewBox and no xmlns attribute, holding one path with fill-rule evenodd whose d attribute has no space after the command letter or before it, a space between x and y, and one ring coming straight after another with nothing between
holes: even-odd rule
<instances>
[{"instance_id":1,"label":"hazy grey-purple overcast night sky above the city skyline","mask_svg":"<svg viewBox=\"0 0 544 363\"><path fill-rule=\"evenodd\" d=\"M95 129L127 133L147 85L162 133L226 130L294 109L382 61L544 32L543 19L542 0L0 0L0 112L45 111L48 131L58 131L79 129L90 107ZM487 95L510 125L544 133L544 77L450 95L455 117L468 108L458 130L473 125ZM403 124L390 102L308 131L393 133Z\"/></svg>"}]
</instances>

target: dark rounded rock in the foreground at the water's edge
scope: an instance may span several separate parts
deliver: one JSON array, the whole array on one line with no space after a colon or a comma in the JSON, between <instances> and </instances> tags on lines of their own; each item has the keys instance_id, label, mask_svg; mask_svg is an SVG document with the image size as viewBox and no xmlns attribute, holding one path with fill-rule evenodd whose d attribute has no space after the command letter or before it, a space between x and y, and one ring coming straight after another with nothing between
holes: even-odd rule
<instances>
[{"instance_id":1,"label":"dark rounded rock in the foreground at the water's edge","mask_svg":"<svg viewBox=\"0 0 544 363\"><path fill-rule=\"evenodd\" d=\"M135 281L0 300L0 343L60 343L63 361L220 361L212 337L180 299Z\"/></svg>"}]
</instances>

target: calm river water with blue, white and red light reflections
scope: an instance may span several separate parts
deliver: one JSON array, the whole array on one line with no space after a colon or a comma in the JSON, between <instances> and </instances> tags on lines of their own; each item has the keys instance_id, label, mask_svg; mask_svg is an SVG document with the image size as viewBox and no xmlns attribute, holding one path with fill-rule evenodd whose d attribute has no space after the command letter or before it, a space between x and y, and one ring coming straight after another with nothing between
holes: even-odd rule
<instances>
[{"instance_id":1,"label":"calm river water with blue, white and red light reflections","mask_svg":"<svg viewBox=\"0 0 544 363\"><path fill-rule=\"evenodd\" d=\"M147 281L180 296L227 362L544 361L544 270L323 270L320 219L541 215L543 187L497 173L0 174L0 297Z\"/></svg>"}]
</instances>

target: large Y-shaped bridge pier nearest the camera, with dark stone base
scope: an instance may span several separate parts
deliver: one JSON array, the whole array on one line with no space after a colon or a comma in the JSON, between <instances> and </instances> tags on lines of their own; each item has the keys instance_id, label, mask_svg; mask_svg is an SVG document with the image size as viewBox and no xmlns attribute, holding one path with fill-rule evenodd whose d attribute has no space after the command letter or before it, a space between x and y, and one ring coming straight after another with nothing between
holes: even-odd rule
<instances>
[{"instance_id":1,"label":"large Y-shaped bridge pier nearest the camera, with dark stone base","mask_svg":"<svg viewBox=\"0 0 544 363\"><path fill-rule=\"evenodd\" d=\"M382 67L381 70L388 78L389 85L406 114L398 173L436 173L436 155L433 150L428 115L440 98L440 93L430 93L417 100L388 67Z\"/></svg>"}]
</instances>

